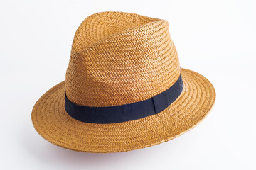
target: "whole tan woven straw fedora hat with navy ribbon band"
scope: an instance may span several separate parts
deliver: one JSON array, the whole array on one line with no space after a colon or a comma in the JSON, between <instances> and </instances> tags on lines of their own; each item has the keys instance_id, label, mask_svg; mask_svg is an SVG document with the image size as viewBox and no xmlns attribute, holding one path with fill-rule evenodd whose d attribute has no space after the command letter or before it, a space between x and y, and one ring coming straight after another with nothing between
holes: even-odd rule
<instances>
[{"instance_id":1,"label":"whole tan woven straw fedora hat with navy ribbon band","mask_svg":"<svg viewBox=\"0 0 256 170\"><path fill-rule=\"evenodd\" d=\"M65 81L32 111L36 131L80 152L126 152L172 140L198 125L213 85L181 69L165 20L96 13L75 33Z\"/></svg>"}]
</instances>

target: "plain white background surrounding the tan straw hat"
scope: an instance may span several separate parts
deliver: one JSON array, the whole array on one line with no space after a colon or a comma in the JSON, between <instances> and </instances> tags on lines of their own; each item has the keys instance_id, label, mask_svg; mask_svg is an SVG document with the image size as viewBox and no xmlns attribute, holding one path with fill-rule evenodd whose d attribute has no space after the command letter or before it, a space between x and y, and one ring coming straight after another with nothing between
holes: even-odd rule
<instances>
[{"instance_id":1,"label":"plain white background surrounding the tan straw hat","mask_svg":"<svg viewBox=\"0 0 256 170\"><path fill-rule=\"evenodd\" d=\"M0 169L256 169L256 3L193 1L0 2ZM89 154L38 135L31 110L65 79L75 30L92 13L169 21L181 67L203 74L217 98L181 137L132 152Z\"/></svg>"}]
</instances>

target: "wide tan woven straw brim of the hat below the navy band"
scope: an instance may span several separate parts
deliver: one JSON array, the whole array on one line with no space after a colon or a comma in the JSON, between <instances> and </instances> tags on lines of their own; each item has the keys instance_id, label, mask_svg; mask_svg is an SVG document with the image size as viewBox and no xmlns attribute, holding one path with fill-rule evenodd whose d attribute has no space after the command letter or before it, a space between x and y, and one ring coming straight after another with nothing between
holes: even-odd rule
<instances>
[{"instance_id":1,"label":"wide tan woven straw brim of the hat below the navy band","mask_svg":"<svg viewBox=\"0 0 256 170\"><path fill-rule=\"evenodd\" d=\"M65 112L65 81L36 102L32 122L46 140L79 152L126 152L150 147L182 135L206 117L215 89L201 74L181 69L181 96L161 113L123 123L96 124L75 120Z\"/></svg>"}]
</instances>

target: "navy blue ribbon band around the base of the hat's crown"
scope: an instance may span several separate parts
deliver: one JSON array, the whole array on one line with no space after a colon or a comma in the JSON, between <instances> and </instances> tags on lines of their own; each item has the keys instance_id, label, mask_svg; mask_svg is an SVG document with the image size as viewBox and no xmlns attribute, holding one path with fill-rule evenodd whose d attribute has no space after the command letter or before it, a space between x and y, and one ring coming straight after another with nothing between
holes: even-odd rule
<instances>
[{"instance_id":1,"label":"navy blue ribbon band around the base of the hat's crown","mask_svg":"<svg viewBox=\"0 0 256 170\"><path fill-rule=\"evenodd\" d=\"M65 94L65 111L72 118L85 123L121 123L144 118L164 111L173 103L183 90L180 77L166 91L145 101L110 107L79 106L68 100Z\"/></svg>"}]
</instances>

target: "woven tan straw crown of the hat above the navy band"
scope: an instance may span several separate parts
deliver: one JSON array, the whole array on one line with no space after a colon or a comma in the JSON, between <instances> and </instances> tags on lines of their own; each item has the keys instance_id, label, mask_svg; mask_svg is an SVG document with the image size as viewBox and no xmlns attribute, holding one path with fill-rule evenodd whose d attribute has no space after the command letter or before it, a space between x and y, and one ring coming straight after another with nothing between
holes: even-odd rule
<instances>
[{"instance_id":1,"label":"woven tan straw crown of the hat above the navy band","mask_svg":"<svg viewBox=\"0 0 256 170\"><path fill-rule=\"evenodd\" d=\"M160 94L180 74L167 21L133 13L96 13L75 33L65 91L81 106L118 106Z\"/></svg>"}]
</instances>

